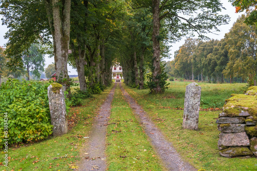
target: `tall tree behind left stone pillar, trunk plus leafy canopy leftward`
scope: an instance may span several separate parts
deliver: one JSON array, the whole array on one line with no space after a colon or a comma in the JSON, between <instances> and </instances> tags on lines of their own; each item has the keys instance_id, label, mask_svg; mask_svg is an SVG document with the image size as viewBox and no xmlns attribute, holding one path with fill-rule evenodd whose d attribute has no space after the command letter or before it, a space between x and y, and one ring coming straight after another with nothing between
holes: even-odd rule
<instances>
[{"instance_id":1,"label":"tall tree behind left stone pillar, trunk plus leafy canopy leftward","mask_svg":"<svg viewBox=\"0 0 257 171\"><path fill-rule=\"evenodd\" d=\"M33 41L40 39L44 43L53 40L54 62L57 80L68 79L67 58L70 33L70 1L1 1L3 24L10 28L6 34L9 38L6 52L10 57L9 66L22 66L22 52L27 50ZM46 17L47 14L47 17ZM62 82L64 90L69 85Z\"/></svg>"}]
</instances>

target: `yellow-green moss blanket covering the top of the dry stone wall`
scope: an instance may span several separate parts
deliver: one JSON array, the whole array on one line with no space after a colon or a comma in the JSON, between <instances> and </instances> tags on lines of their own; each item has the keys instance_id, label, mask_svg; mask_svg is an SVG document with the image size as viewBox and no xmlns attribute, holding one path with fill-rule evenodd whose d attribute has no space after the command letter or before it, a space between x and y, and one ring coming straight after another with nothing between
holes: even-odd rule
<instances>
[{"instance_id":1,"label":"yellow-green moss blanket covering the top of the dry stone wall","mask_svg":"<svg viewBox=\"0 0 257 171\"><path fill-rule=\"evenodd\" d=\"M254 96L235 94L225 101L226 104L223 106L225 108L224 112L229 117L239 116L242 110L247 111L251 116L257 116L257 98Z\"/></svg>"}]
</instances>

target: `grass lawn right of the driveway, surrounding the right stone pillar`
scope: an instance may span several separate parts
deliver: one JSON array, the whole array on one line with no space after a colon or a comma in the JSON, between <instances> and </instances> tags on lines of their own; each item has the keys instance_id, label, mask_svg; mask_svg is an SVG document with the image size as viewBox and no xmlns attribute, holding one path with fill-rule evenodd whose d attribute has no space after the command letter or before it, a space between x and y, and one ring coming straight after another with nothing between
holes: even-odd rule
<instances>
[{"instance_id":1,"label":"grass lawn right of the driveway, surrounding the right stone pillar","mask_svg":"<svg viewBox=\"0 0 257 171\"><path fill-rule=\"evenodd\" d=\"M190 82L186 82L186 85ZM148 112L153 122L162 130L171 141L178 153L197 169L205 170L257 170L256 158L225 158L218 154L217 141L219 131L216 119L221 111L200 111L199 130L182 129L183 101L186 91L183 82L173 82L172 87L163 94L149 94L149 90L138 90L124 86L143 109ZM209 104L218 104L222 107L225 99L231 93L242 93L246 84L210 84L199 83L201 86L201 100ZM222 104L222 105L220 105ZM201 103L201 108L210 108Z\"/></svg>"}]
</instances>

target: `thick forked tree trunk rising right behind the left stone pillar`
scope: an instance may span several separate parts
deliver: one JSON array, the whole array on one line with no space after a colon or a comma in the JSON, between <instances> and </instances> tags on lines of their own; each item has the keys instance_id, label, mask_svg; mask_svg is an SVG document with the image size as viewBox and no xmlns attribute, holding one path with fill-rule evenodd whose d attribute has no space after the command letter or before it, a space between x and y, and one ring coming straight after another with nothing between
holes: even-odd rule
<instances>
[{"instance_id":1,"label":"thick forked tree trunk rising right behind the left stone pillar","mask_svg":"<svg viewBox=\"0 0 257 171\"><path fill-rule=\"evenodd\" d=\"M58 0L45 0L48 21L50 28L52 28L53 54L57 81L64 78L69 81L67 60L70 33L70 1L63 0L61 6ZM64 91L69 88L68 81L61 82Z\"/></svg>"}]
</instances>

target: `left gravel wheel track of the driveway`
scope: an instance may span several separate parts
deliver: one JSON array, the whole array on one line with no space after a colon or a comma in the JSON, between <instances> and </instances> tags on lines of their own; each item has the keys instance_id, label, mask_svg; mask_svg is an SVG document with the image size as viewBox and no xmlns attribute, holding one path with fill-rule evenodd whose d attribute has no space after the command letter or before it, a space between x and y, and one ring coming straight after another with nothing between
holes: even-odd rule
<instances>
[{"instance_id":1,"label":"left gravel wheel track of the driveway","mask_svg":"<svg viewBox=\"0 0 257 171\"><path fill-rule=\"evenodd\" d=\"M105 162L105 140L106 140L106 129L108 124L108 118L111 115L111 104L114 97L114 91L117 83L108 94L105 102L101 105L99 114L95 118L94 126L89 135L89 141L86 144L85 151L87 152L81 163L79 164L79 171L86 170L106 170Z\"/></svg>"}]
</instances>

